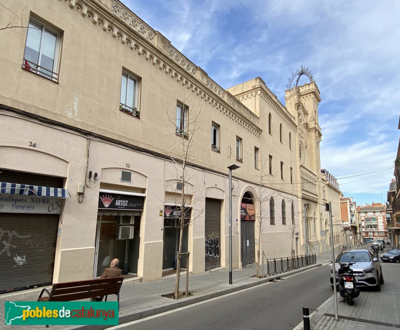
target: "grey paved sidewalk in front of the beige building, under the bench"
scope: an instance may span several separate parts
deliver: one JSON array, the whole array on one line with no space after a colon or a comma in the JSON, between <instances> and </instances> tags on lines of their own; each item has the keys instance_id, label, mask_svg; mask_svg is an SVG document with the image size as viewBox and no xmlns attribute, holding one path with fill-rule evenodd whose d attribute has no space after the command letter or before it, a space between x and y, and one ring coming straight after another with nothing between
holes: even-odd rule
<instances>
[{"instance_id":1,"label":"grey paved sidewalk in front of the beige building, under the bench","mask_svg":"<svg viewBox=\"0 0 400 330\"><path fill-rule=\"evenodd\" d=\"M242 290L244 288L259 285L275 278L287 276L296 272L320 265L317 262L314 265L304 266L299 269L291 270L285 273L272 275L264 278L252 277L256 274L256 265L249 264L241 269L232 270L232 284L228 284L229 271L223 268L207 271L202 274L189 276L190 295L185 298L174 300L161 296L162 294L172 293L174 290L175 277L164 278L152 282L133 282L124 281L119 296L119 324L140 319L143 317L155 315L157 313L187 306L199 301L204 301L230 292ZM180 291L185 288L185 275L181 275ZM41 288L18 291L9 294L0 295L0 329L10 329L10 326L4 325L4 301L36 301ZM108 296L107 301L115 301L116 296ZM39 329L44 325L17 326L13 329ZM50 325L50 329L85 329L89 326L59 326ZM91 329L102 329L105 326L91 326Z\"/></svg>"}]
</instances>

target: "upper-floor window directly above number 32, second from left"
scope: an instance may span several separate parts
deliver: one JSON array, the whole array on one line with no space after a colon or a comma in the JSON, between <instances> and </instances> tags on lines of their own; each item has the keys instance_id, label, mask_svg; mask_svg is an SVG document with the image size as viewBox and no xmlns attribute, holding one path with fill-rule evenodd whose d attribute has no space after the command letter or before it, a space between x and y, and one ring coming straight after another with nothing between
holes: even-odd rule
<instances>
[{"instance_id":1,"label":"upper-floor window directly above number 32, second from left","mask_svg":"<svg viewBox=\"0 0 400 330\"><path fill-rule=\"evenodd\" d=\"M138 84L138 79L136 77L122 72L119 110L134 115L135 117L140 116L140 112L137 109Z\"/></svg>"}]
</instances>

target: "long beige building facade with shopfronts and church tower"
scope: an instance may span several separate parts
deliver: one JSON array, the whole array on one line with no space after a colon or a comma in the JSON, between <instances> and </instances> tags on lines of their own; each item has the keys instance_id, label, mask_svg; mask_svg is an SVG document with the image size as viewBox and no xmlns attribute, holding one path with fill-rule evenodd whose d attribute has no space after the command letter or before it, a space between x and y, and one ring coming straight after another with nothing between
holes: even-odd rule
<instances>
[{"instance_id":1,"label":"long beige building facade with shopfronts and church tower","mask_svg":"<svg viewBox=\"0 0 400 330\"><path fill-rule=\"evenodd\" d=\"M230 193L234 268L320 251L312 79L284 106L259 77L224 90L119 1L2 4L0 265L21 275L1 270L0 293L92 278L113 257L159 279L182 212L189 270L227 268Z\"/></svg>"}]
</instances>

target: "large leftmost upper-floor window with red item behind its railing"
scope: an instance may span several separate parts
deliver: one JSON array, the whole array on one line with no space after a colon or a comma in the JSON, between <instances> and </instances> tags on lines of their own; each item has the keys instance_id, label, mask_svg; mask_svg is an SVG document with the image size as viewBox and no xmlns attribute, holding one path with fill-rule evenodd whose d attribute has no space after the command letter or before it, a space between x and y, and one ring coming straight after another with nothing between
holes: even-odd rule
<instances>
[{"instance_id":1,"label":"large leftmost upper-floor window with red item behind its railing","mask_svg":"<svg viewBox=\"0 0 400 330\"><path fill-rule=\"evenodd\" d=\"M22 68L58 82L60 49L59 32L29 19Z\"/></svg>"}]
</instances>

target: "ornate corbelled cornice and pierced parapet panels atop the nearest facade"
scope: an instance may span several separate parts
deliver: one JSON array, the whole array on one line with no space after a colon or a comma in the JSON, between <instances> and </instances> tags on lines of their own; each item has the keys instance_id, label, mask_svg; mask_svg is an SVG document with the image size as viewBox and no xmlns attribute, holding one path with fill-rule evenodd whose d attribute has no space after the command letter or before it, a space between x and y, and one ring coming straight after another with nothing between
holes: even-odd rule
<instances>
[{"instance_id":1,"label":"ornate corbelled cornice and pierced parapet panels atop the nearest facade","mask_svg":"<svg viewBox=\"0 0 400 330\"><path fill-rule=\"evenodd\" d=\"M93 24L98 25L104 31L110 33L114 38L121 41L122 44L128 46L131 50L135 51L139 56L144 57L145 60L157 66L161 71L165 74L168 74L172 79L176 80L178 83L181 83L183 86L186 86L187 89L191 90L198 97L203 99L205 102L211 104L216 109L224 113L226 116L231 118L237 124L243 126L249 132L254 134L257 137L261 136L262 130L255 126L249 119L245 117L245 115L240 115L240 112L232 111L230 108L223 105L221 101L215 98L211 93L216 96L224 99L226 97L226 91L220 88L214 81L207 78L206 87L209 89L207 91L203 90L200 87L200 84L196 84L194 81L190 80L188 77L181 74L176 68L172 65L169 65L162 56L156 54L155 51L150 49L150 47L146 47L137 39L137 37L133 35L127 35L121 28L118 27L118 24L111 22L105 18L106 15L99 14L92 6L88 4L87 0L60 0L69 5L71 9L75 9L82 16L86 16L88 19L92 21ZM155 34L156 32L147 25L144 25L137 16L130 13L124 9L121 5L119 5L116 1L112 1L112 10L113 14L117 15L125 24L127 24L130 28L138 32L142 37L146 38L148 42L154 44ZM190 73L193 79L196 78L197 68L188 60L185 59L183 55L181 55L173 46L169 46L169 56L173 60L173 63L179 65L179 67L184 68L184 72ZM236 110L237 111L237 110ZM248 110L249 111L249 110Z\"/></svg>"}]
</instances>

